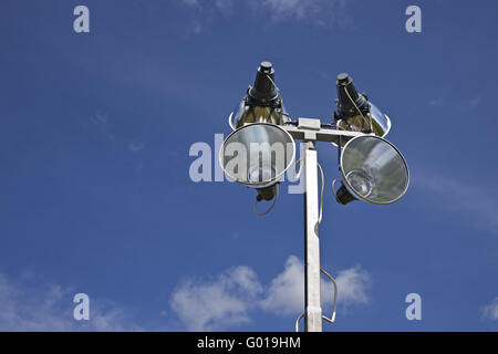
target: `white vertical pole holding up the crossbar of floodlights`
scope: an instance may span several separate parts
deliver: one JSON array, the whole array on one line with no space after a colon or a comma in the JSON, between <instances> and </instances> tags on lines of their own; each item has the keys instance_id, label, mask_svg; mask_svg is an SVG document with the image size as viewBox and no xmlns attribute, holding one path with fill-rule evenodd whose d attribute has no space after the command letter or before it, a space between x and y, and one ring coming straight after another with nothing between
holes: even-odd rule
<instances>
[{"instance_id":1,"label":"white vertical pole holding up the crossbar of floodlights","mask_svg":"<svg viewBox=\"0 0 498 354\"><path fill-rule=\"evenodd\" d=\"M322 332L320 303L320 239L317 150L312 142L304 150L304 305L307 332Z\"/></svg>"}]
</instances>

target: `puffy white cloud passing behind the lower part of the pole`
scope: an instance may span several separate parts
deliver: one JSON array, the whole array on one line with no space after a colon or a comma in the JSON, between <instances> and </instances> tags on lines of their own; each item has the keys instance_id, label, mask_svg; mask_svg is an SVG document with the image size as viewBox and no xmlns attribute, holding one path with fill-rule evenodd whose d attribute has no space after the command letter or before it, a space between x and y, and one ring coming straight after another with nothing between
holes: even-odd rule
<instances>
[{"instance_id":1,"label":"puffy white cloud passing behind the lower part of the pole","mask_svg":"<svg viewBox=\"0 0 498 354\"><path fill-rule=\"evenodd\" d=\"M299 315L304 305L302 261L290 256L283 271L262 285L256 272L237 267L209 281L184 281L174 292L170 306L190 331L212 331L249 323L251 311ZM360 267L336 277L339 304L344 308L369 302L370 277ZM322 305L333 301L332 285L322 282Z\"/></svg>"}]
</instances>

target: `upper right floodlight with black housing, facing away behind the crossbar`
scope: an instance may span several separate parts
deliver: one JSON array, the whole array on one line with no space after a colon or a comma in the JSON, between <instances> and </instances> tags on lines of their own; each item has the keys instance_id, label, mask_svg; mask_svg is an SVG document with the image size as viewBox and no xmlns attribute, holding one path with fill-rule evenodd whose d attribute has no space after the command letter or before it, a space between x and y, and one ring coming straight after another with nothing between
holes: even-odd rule
<instances>
[{"instance_id":1,"label":"upper right floodlight with black housing, facing away behind the crossbar","mask_svg":"<svg viewBox=\"0 0 498 354\"><path fill-rule=\"evenodd\" d=\"M346 73L338 75L338 111L334 121L338 129L374 133L384 137L391 129L390 117L382 113L366 95L359 94Z\"/></svg>"}]
</instances>

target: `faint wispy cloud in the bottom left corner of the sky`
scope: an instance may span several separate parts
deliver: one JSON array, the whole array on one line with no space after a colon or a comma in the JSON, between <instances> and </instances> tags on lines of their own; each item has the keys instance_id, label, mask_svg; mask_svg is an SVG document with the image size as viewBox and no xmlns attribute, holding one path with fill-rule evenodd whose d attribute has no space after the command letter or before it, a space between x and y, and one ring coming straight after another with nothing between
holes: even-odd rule
<instances>
[{"instance_id":1,"label":"faint wispy cloud in the bottom left corner of the sky","mask_svg":"<svg viewBox=\"0 0 498 354\"><path fill-rule=\"evenodd\" d=\"M124 311L91 298L90 320L75 321L75 292L60 285L13 283L0 274L0 331L138 331Z\"/></svg>"}]
</instances>

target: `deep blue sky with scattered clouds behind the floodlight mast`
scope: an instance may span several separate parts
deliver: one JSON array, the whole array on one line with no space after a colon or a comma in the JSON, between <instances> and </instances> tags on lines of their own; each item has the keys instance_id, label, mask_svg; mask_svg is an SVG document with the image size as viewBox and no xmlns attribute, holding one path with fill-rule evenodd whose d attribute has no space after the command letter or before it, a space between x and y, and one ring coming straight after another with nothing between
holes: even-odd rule
<instances>
[{"instance_id":1,"label":"deep blue sky with scattered clouds behind the floodlight mast","mask_svg":"<svg viewBox=\"0 0 498 354\"><path fill-rule=\"evenodd\" d=\"M90 33L73 30L79 4ZM411 4L422 33L405 30ZM324 330L498 330L497 10L2 1L0 329L293 330L302 196L282 192L258 217L252 190L189 177L191 145L214 149L230 132L228 114L268 60L293 118L330 121L335 76L350 73L390 115L387 138L412 174L387 207L342 207L325 189L322 267L341 287ZM336 152L318 150L329 186ZM72 317L79 292L90 321ZM422 321L405 317L412 292Z\"/></svg>"}]
</instances>

